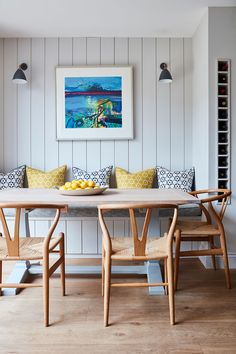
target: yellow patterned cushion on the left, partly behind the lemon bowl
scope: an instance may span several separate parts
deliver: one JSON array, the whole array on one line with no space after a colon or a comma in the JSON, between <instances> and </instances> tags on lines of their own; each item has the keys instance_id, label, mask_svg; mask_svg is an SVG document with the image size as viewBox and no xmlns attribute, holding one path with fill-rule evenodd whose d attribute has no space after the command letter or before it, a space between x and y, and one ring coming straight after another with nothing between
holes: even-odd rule
<instances>
[{"instance_id":1,"label":"yellow patterned cushion on the left, partly behind the lemon bowl","mask_svg":"<svg viewBox=\"0 0 236 354\"><path fill-rule=\"evenodd\" d=\"M26 167L29 188L52 188L65 183L66 166L61 166L50 172Z\"/></svg>"}]
</instances>

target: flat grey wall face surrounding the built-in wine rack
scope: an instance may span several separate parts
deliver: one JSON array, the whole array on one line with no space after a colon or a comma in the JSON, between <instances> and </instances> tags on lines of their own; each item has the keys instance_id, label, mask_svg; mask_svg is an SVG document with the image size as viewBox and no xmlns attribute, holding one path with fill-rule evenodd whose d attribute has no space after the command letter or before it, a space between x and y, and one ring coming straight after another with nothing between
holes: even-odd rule
<instances>
[{"instance_id":1,"label":"flat grey wall face surrounding the built-in wine rack","mask_svg":"<svg viewBox=\"0 0 236 354\"><path fill-rule=\"evenodd\" d=\"M225 226L228 247L236 266L236 7L209 9L209 171L210 184L216 185L216 59L231 60L231 205ZM234 256L234 258L233 258ZM233 261L232 261L233 262Z\"/></svg>"}]
</instances>

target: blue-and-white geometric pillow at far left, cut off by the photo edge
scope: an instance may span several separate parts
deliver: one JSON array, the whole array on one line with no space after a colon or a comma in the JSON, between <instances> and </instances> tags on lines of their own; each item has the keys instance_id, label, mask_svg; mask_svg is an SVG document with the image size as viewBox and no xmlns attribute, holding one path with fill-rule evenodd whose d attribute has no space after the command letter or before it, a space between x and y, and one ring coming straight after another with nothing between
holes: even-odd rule
<instances>
[{"instance_id":1,"label":"blue-and-white geometric pillow at far left, cut off by the photo edge","mask_svg":"<svg viewBox=\"0 0 236 354\"><path fill-rule=\"evenodd\" d=\"M4 174L0 172L0 190L7 188L23 188L25 178L25 165L14 168Z\"/></svg>"}]
</instances>

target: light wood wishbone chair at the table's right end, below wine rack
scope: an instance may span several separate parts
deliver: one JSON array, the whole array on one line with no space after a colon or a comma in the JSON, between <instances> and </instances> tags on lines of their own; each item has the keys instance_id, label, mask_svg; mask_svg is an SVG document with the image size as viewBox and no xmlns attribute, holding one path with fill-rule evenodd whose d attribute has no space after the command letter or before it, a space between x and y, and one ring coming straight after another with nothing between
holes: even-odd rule
<instances>
[{"instance_id":1,"label":"light wood wishbone chair at the table's right end, below wine rack","mask_svg":"<svg viewBox=\"0 0 236 354\"><path fill-rule=\"evenodd\" d=\"M179 261L181 257L211 256L213 268L216 269L216 255L221 255L224 261L224 270L227 288L231 288L229 263L225 239L223 217L228 205L231 191L229 189L205 189L190 192L190 194L201 199L200 208L204 221L178 220L175 231L176 252L175 252L175 289L178 286ZM219 205L213 204L218 202ZM215 238L219 238L219 246ZM207 241L205 249L180 251L181 242Z\"/></svg>"}]
</instances>

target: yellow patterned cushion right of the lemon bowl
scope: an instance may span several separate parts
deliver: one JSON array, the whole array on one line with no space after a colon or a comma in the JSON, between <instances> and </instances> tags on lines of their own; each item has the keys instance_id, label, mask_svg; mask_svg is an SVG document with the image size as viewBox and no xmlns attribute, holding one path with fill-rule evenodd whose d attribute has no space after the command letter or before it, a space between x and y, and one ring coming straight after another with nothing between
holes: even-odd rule
<instances>
[{"instance_id":1,"label":"yellow patterned cushion right of the lemon bowl","mask_svg":"<svg viewBox=\"0 0 236 354\"><path fill-rule=\"evenodd\" d=\"M120 167L116 168L116 185L117 188L152 188L155 169L129 173Z\"/></svg>"}]
</instances>

